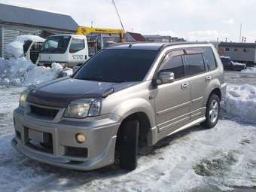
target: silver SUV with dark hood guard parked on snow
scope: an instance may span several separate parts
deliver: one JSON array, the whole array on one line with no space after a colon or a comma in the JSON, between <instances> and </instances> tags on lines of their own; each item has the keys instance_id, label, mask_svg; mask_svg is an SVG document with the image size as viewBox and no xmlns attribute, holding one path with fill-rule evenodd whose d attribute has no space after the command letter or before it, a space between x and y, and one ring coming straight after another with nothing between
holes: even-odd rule
<instances>
[{"instance_id":1,"label":"silver SUV with dark hood guard parked on snow","mask_svg":"<svg viewBox=\"0 0 256 192\"><path fill-rule=\"evenodd\" d=\"M135 169L140 141L154 145L199 123L215 126L225 88L212 44L116 44L71 78L25 90L12 145L55 166L97 169L118 154L122 169Z\"/></svg>"}]
</instances>

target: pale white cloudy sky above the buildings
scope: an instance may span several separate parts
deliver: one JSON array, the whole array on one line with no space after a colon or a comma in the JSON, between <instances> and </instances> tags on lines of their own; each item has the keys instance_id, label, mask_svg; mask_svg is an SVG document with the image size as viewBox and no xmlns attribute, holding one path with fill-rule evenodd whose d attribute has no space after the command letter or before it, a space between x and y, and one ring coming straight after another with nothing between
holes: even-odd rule
<instances>
[{"instance_id":1,"label":"pale white cloudy sky above the buildings","mask_svg":"<svg viewBox=\"0 0 256 192\"><path fill-rule=\"evenodd\" d=\"M81 26L120 28L111 0L0 0L1 3L69 14ZM256 41L256 0L115 0L126 31L194 41ZM14 13L15 14L15 13Z\"/></svg>"}]
</instances>

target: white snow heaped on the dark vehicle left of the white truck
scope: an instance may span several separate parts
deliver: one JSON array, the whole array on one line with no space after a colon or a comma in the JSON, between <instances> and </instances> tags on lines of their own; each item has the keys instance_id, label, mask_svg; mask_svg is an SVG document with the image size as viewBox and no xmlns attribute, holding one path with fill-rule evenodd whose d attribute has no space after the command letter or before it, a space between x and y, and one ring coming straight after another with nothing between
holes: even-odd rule
<instances>
[{"instance_id":1,"label":"white snow heaped on the dark vehicle left of the white truck","mask_svg":"<svg viewBox=\"0 0 256 192\"><path fill-rule=\"evenodd\" d=\"M7 44L7 53L9 53L11 56L14 56L15 58L23 56L23 44L25 41L28 40L41 42L45 41L44 38L38 37L36 35L20 35L15 39L15 41L11 42L10 44Z\"/></svg>"}]
</instances>

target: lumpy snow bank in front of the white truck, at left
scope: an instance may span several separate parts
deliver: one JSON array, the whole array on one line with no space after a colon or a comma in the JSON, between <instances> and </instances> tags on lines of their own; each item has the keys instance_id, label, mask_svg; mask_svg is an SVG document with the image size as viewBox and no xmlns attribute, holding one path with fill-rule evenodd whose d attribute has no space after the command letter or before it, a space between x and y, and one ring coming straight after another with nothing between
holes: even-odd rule
<instances>
[{"instance_id":1,"label":"lumpy snow bank in front of the white truck, at left","mask_svg":"<svg viewBox=\"0 0 256 192\"><path fill-rule=\"evenodd\" d=\"M61 76L70 75L72 69L63 69L59 63L53 62L51 68L35 66L24 57L17 59L0 59L0 84L28 86L51 81Z\"/></svg>"}]
</instances>

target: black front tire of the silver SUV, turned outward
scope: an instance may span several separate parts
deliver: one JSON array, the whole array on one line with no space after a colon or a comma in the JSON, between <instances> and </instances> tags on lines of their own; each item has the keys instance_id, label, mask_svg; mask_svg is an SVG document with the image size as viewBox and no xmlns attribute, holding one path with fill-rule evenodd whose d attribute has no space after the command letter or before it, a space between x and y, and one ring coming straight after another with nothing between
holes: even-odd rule
<instances>
[{"instance_id":1,"label":"black front tire of the silver SUV, turned outward","mask_svg":"<svg viewBox=\"0 0 256 192\"><path fill-rule=\"evenodd\" d=\"M136 169L139 143L139 120L127 120L120 127L120 168Z\"/></svg>"}]
</instances>

